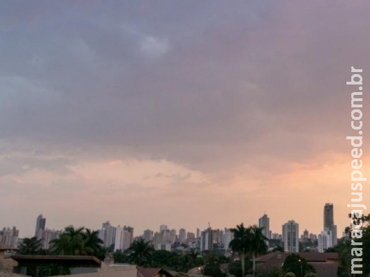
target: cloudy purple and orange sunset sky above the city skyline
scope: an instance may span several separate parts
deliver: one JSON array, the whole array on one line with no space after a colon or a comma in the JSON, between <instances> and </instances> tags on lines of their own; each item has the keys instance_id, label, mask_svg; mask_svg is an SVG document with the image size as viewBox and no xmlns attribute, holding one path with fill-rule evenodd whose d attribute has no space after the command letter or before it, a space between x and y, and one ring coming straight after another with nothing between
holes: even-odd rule
<instances>
[{"instance_id":1,"label":"cloudy purple and orange sunset sky above the city skyline","mask_svg":"<svg viewBox=\"0 0 370 277\"><path fill-rule=\"evenodd\" d=\"M0 228L350 224L370 2L0 1ZM370 206L364 184L363 204ZM370 211L369 211L370 213Z\"/></svg>"}]
</instances>

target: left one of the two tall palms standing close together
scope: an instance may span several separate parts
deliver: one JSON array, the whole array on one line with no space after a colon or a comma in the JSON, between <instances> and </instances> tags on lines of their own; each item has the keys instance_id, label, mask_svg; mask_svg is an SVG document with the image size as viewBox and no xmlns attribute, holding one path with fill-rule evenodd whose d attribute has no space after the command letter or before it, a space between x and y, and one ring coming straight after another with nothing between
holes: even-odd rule
<instances>
[{"instance_id":1,"label":"left one of the two tall palms standing close together","mask_svg":"<svg viewBox=\"0 0 370 277\"><path fill-rule=\"evenodd\" d=\"M236 228L230 230L234 233L234 239L229 243L229 247L233 252L239 253L240 261L242 262L242 277L245 276L245 256L250 249L251 230L245 228L244 224L236 225Z\"/></svg>"}]
</instances>

